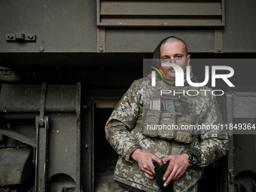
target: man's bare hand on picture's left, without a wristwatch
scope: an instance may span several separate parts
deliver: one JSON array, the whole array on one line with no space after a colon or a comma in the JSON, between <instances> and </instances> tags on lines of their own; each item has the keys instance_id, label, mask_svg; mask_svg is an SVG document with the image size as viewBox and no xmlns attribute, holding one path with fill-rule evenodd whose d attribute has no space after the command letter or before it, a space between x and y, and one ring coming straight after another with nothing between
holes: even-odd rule
<instances>
[{"instance_id":1,"label":"man's bare hand on picture's left, without a wristwatch","mask_svg":"<svg viewBox=\"0 0 256 192\"><path fill-rule=\"evenodd\" d=\"M154 172L153 160L160 165L163 164L159 157L154 154L142 151L141 149L136 149L136 151L133 151L132 158L138 162L139 169L141 169L144 175L150 179L153 179L154 175L156 174Z\"/></svg>"}]
</instances>

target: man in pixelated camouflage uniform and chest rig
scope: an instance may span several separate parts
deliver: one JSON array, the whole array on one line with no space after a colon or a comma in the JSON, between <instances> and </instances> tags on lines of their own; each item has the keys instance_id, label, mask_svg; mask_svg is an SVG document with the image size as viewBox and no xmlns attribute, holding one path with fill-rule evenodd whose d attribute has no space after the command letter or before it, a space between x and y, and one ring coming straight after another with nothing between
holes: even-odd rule
<instances>
[{"instance_id":1,"label":"man in pixelated camouflage uniform and chest rig","mask_svg":"<svg viewBox=\"0 0 256 192\"><path fill-rule=\"evenodd\" d=\"M195 133L194 130L181 130L181 126L218 127L223 123L218 103L211 91L200 91L210 90L208 87L187 84L185 72L190 66L190 55L180 38L171 36L163 39L154 50L154 58L160 59L161 63L181 66L184 87L175 87L175 70L163 67L167 79L157 79L155 87L151 86L151 76L148 76L134 81L126 91L105 126L106 138L119 154L114 180L132 191L166 191L167 187L168 191L197 191L197 181L201 176L199 168L227 153L228 137L224 130L209 129ZM196 82L191 67L190 79ZM160 94L161 89L179 93L181 90L194 90L198 94L169 96ZM159 101L161 106L164 103L173 105L174 110L152 108L150 103ZM177 111L178 108L184 110ZM157 123L176 125L178 130L151 127ZM167 169L157 172L156 179L155 166L162 165Z\"/></svg>"}]
</instances>

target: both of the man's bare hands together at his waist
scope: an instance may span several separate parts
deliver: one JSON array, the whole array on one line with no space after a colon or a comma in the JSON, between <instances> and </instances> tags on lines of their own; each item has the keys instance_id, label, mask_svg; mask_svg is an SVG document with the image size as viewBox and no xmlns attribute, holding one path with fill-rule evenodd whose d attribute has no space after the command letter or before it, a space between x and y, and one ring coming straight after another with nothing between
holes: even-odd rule
<instances>
[{"instance_id":1,"label":"both of the man's bare hands together at his waist","mask_svg":"<svg viewBox=\"0 0 256 192\"><path fill-rule=\"evenodd\" d=\"M154 175L156 175L154 172L153 161L160 165L169 162L169 166L163 175L163 181L165 181L163 184L164 187L166 187L170 181L180 178L187 170L187 167L190 166L187 154L173 154L161 160L154 154L142 151L141 149L136 149L132 154L132 158L138 162L139 169L141 169L144 175L150 179L153 179Z\"/></svg>"}]
</instances>

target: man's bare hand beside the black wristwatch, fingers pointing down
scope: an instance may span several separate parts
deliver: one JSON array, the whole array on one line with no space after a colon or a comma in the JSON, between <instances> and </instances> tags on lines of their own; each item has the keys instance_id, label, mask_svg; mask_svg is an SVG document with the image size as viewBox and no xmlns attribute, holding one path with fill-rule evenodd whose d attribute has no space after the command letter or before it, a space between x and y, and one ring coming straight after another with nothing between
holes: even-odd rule
<instances>
[{"instance_id":1,"label":"man's bare hand beside the black wristwatch, fingers pointing down","mask_svg":"<svg viewBox=\"0 0 256 192\"><path fill-rule=\"evenodd\" d=\"M166 187L170 181L180 178L187 170L187 167L190 166L188 154L174 154L163 158L163 163L167 163L168 161L169 166L163 175L163 181L165 181L163 184L164 187Z\"/></svg>"}]
</instances>

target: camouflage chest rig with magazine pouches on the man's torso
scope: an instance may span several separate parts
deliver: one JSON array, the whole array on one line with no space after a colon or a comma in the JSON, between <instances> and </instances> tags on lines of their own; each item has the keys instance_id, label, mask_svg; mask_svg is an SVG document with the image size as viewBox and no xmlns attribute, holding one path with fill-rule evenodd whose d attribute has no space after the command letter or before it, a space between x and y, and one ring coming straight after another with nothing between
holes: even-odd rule
<instances>
[{"instance_id":1,"label":"camouflage chest rig with magazine pouches on the man's torso","mask_svg":"<svg viewBox=\"0 0 256 192\"><path fill-rule=\"evenodd\" d=\"M191 87L190 87L191 88ZM198 89L196 87L195 89ZM161 110L145 109L142 134L175 142L191 143L194 136L195 99L193 96L160 96L160 89L153 93L153 99L161 99ZM174 106L167 100L172 99ZM166 102L167 101L167 102ZM167 106L167 108L166 108ZM169 106L169 107L168 107ZM172 111L168 109L172 108ZM192 126L191 126L192 125Z\"/></svg>"}]
</instances>

